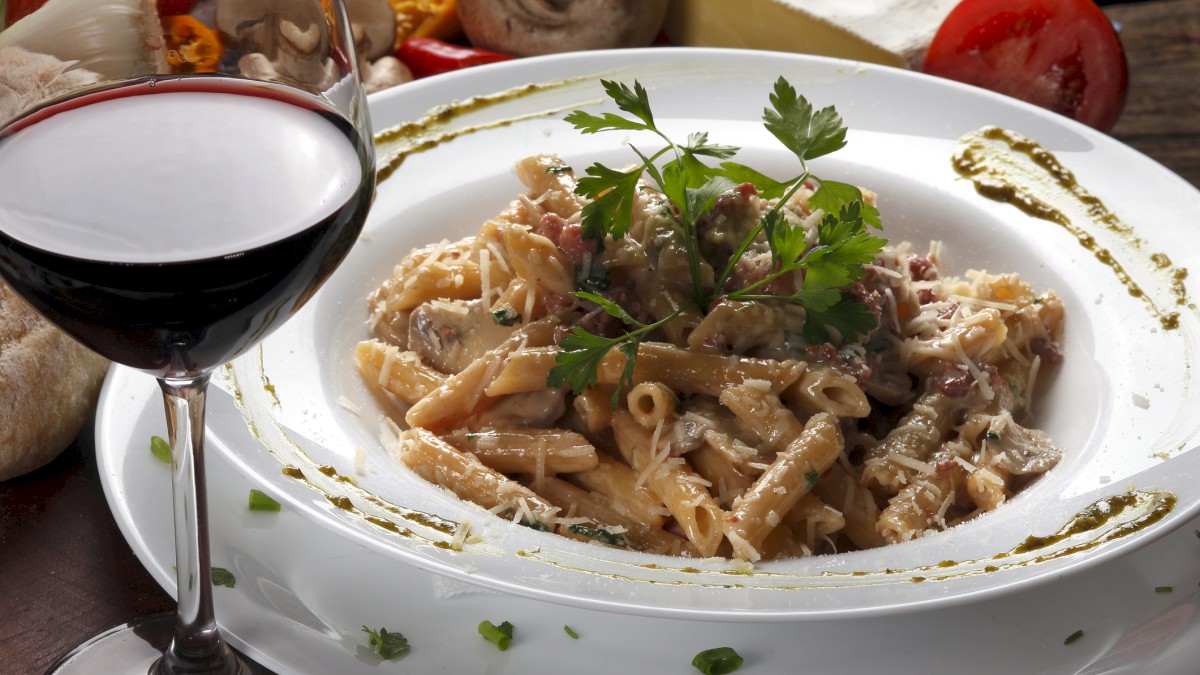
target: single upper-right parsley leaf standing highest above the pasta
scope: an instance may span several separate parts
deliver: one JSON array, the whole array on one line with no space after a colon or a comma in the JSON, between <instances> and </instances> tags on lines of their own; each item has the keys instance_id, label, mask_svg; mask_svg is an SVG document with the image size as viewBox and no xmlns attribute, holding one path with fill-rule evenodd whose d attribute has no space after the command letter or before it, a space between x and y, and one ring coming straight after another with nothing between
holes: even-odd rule
<instances>
[{"instance_id":1,"label":"single upper-right parsley leaf standing highest above the pasta","mask_svg":"<svg viewBox=\"0 0 1200 675\"><path fill-rule=\"evenodd\" d=\"M846 127L838 110L833 106L814 110L812 103L782 77L775 80L770 104L772 108L762 113L763 126L800 161L828 155L846 145Z\"/></svg>"}]
</instances>

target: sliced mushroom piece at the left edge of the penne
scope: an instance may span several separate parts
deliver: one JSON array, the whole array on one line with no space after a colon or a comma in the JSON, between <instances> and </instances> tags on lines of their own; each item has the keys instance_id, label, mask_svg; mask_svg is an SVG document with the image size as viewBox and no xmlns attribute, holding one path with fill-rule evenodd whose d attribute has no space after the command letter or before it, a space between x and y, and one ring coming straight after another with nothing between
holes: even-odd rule
<instances>
[{"instance_id":1,"label":"sliced mushroom piece at the left edge of the penne","mask_svg":"<svg viewBox=\"0 0 1200 675\"><path fill-rule=\"evenodd\" d=\"M499 346L514 330L497 324L482 300L433 300L413 310L408 348L425 364L455 374Z\"/></svg>"}]
</instances>

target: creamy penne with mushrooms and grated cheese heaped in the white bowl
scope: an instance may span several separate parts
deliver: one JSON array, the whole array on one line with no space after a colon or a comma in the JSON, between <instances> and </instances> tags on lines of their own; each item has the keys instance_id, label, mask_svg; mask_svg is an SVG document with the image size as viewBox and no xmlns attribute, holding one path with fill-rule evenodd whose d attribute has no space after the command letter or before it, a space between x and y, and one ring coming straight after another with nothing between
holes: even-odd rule
<instances>
[{"instance_id":1,"label":"creamy penne with mushrooms and grated cheese heaped in the white bowl","mask_svg":"<svg viewBox=\"0 0 1200 675\"><path fill-rule=\"evenodd\" d=\"M935 533L1058 461L1022 422L1062 360L1062 303L944 275L937 243L834 243L877 213L869 191L839 209L806 173L731 183L689 231L659 175L598 238L589 204L616 189L586 195L554 155L516 171L505 209L403 256L368 301L355 360L421 478L565 537L756 562ZM853 275L817 295L839 251Z\"/></svg>"}]
</instances>

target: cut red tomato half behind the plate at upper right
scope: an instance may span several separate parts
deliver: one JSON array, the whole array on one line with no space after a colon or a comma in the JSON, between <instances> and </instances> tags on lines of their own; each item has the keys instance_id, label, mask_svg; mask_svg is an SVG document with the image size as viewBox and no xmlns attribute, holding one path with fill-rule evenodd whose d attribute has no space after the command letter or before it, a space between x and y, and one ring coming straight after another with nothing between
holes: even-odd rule
<instances>
[{"instance_id":1,"label":"cut red tomato half behind the plate at upper right","mask_svg":"<svg viewBox=\"0 0 1200 675\"><path fill-rule=\"evenodd\" d=\"M942 22L925 72L991 89L1108 131L1128 68L1092 0L964 0Z\"/></svg>"}]
</instances>

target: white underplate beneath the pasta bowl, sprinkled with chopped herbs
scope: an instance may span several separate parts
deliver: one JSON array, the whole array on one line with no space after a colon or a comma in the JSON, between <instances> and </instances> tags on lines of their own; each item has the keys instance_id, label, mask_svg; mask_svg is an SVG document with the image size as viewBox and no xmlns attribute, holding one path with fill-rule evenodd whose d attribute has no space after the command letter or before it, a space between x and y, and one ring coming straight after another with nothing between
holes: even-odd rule
<instances>
[{"instance_id":1,"label":"white underplate beneath the pasta bowl, sprinkled with chopped herbs","mask_svg":"<svg viewBox=\"0 0 1200 675\"><path fill-rule=\"evenodd\" d=\"M222 392L209 412L215 424L240 418ZM154 381L114 369L97 424L100 476L133 550L174 593L169 468L149 452L150 436L164 431ZM940 674L964 664L979 675L1194 675L1200 661L1200 519L1070 579L904 621L722 623L541 603L397 566L290 506L248 512L259 482L226 453L210 454L208 471L212 562L236 579L215 590L221 629L280 675L684 674L696 673L695 653L725 645L746 659L739 675ZM516 627L508 651L475 633L485 619ZM412 652L378 664L361 651L364 623L403 633Z\"/></svg>"}]
</instances>

